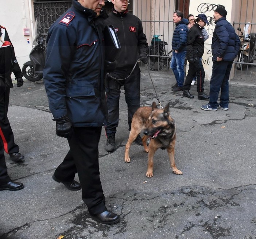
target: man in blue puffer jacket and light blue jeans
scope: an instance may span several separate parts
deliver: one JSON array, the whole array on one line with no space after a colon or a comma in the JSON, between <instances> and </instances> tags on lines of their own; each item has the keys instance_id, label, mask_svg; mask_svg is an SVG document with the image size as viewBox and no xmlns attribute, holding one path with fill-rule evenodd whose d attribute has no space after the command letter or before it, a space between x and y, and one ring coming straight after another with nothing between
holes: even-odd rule
<instances>
[{"instance_id":1,"label":"man in blue puffer jacket and light blue jeans","mask_svg":"<svg viewBox=\"0 0 256 239\"><path fill-rule=\"evenodd\" d=\"M187 33L189 29L187 25L189 21L183 19L183 13L181 11L175 11L173 13L173 22L176 24L172 36L172 58L170 68L172 69L177 83L172 86L172 91L183 91L184 82L184 63L187 53Z\"/></svg>"}]
</instances>

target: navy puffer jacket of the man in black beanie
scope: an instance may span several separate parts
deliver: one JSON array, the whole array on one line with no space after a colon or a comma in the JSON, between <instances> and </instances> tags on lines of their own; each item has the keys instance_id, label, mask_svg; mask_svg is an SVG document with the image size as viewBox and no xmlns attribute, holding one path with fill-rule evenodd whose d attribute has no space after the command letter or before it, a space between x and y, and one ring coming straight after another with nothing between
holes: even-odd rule
<instances>
[{"instance_id":1,"label":"navy puffer jacket of the man in black beanie","mask_svg":"<svg viewBox=\"0 0 256 239\"><path fill-rule=\"evenodd\" d=\"M212 38L213 62L216 62L217 57L233 61L239 51L240 39L226 17L221 17L215 23Z\"/></svg>"}]
</instances>

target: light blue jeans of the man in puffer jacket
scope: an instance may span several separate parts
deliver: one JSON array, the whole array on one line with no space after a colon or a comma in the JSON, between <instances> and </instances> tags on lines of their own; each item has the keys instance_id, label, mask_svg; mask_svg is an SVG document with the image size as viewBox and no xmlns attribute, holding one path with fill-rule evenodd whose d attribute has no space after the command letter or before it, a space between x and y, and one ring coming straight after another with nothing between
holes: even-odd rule
<instances>
[{"instance_id":1,"label":"light blue jeans of the man in puffer jacket","mask_svg":"<svg viewBox=\"0 0 256 239\"><path fill-rule=\"evenodd\" d=\"M178 53L176 53L175 51L172 51L170 68L172 69L173 74L175 75L175 79L176 79L179 87L182 87L183 82L184 82L185 58L186 58L186 51L181 51Z\"/></svg>"}]
</instances>

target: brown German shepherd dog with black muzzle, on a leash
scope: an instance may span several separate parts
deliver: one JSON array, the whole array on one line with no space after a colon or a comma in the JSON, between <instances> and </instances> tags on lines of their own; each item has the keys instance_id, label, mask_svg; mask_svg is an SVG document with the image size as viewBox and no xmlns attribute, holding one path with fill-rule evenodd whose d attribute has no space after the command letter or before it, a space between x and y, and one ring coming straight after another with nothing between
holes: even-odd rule
<instances>
[{"instance_id":1,"label":"brown German shepherd dog with black muzzle, on a leash","mask_svg":"<svg viewBox=\"0 0 256 239\"><path fill-rule=\"evenodd\" d=\"M174 161L174 146L176 140L176 125L174 119L170 116L169 103L164 109L158 109L156 103L152 103L152 107L144 106L137 109L132 117L131 132L125 146L125 162L131 162L129 157L129 149L132 142L144 130L142 142L144 150L148 153L148 169L146 177L153 177L153 157L159 148L167 149L172 172L181 175L182 172L177 169ZM147 146L147 139L150 143Z\"/></svg>"}]
</instances>

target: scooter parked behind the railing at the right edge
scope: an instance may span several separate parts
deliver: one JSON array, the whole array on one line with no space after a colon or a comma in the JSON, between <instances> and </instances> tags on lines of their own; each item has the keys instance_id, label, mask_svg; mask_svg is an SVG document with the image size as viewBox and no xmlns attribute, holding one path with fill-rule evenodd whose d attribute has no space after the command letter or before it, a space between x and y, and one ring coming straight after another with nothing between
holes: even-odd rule
<instances>
[{"instance_id":1,"label":"scooter parked behind the railing at the right edge","mask_svg":"<svg viewBox=\"0 0 256 239\"><path fill-rule=\"evenodd\" d=\"M240 27L238 27L237 30L241 32L241 35L239 36L241 44L237 59L237 61L241 63L237 63L236 68L237 70L242 70L243 62L253 63L253 61L256 60L256 33L253 32L245 37Z\"/></svg>"}]
</instances>

